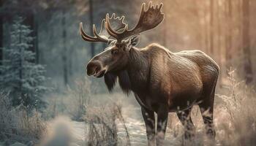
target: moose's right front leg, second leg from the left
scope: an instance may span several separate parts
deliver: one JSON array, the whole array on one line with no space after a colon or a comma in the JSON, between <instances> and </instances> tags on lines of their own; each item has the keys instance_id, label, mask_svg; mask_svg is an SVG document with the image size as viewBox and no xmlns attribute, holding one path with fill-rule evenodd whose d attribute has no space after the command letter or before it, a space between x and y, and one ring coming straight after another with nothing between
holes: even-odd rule
<instances>
[{"instance_id":1,"label":"moose's right front leg, second leg from the left","mask_svg":"<svg viewBox=\"0 0 256 146\"><path fill-rule=\"evenodd\" d=\"M168 110L162 108L157 112L157 145L164 145Z\"/></svg>"}]
</instances>

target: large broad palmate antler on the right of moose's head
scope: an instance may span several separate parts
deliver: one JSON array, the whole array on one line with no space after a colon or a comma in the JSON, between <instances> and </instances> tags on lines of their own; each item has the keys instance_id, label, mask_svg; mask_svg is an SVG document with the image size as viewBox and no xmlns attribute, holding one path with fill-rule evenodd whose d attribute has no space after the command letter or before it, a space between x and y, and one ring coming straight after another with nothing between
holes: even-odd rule
<instances>
[{"instance_id":1,"label":"large broad palmate antler on the right of moose's head","mask_svg":"<svg viewBox=\"0 0 256 146\"><path fill-rule=\"evenodd\" d=\"M149 29L157 27L159 23L161 23L162 20L164 20L164 14L162 14L161 12L163 4L157 4L156 7L151 6L151 4L152 3L149 2L147 10L145 10L145 3L142 4L138 23L135 26L135 28L132 28L130 30L128 30L128 24L125 24L124 31L118 32L113 30L113 28L111 28L110 26L109 15L106 15L105 28L108 31L108 34L116 38L118 42L121 42L121 40L127 37L130 37L135 34L140 34L143 31L147 31Z\"/></svg>"}]
</instances>

